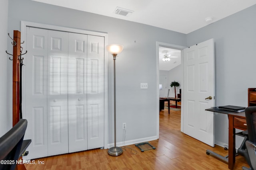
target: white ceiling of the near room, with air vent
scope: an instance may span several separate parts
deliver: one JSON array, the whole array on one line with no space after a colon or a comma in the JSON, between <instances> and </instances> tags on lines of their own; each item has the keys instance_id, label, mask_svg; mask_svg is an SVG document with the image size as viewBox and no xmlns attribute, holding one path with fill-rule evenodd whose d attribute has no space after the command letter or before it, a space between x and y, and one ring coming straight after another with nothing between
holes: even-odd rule
<instances>
[{"instance_id":1,"label":"white ceiling of the near room, with air vent","mask_svg":"<svg viewBox=\"0 0 256 170\"><path fill-rule=\"evenodd\" d=\"M190 33L212 22L244 10L256 0L34 0L91 12L122 20L144 23L180 33ZM134 11L114 14L116 7ZM205 18L213 17L206 22Z\"/></svg>"}]
</instances>

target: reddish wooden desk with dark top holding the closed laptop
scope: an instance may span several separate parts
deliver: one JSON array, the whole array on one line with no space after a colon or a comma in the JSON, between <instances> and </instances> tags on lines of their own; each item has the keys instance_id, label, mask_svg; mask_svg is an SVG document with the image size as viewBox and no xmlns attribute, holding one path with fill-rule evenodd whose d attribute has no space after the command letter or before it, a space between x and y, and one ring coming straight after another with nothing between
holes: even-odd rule
<instances>
[{"instance_id":1,"label":"reddish wooden desk with dark top holding the closed laptop","mask_svg":"<svg viewBox=\"0 0 256 170\"><path fill-rule=\"evenodd\" d=\"M228 115L228 168L232 170L236 162L236 131L235 129L246 130L245 113L226 111L218 108L206 109L216 113Z\"/></svg>"}]
</instances>

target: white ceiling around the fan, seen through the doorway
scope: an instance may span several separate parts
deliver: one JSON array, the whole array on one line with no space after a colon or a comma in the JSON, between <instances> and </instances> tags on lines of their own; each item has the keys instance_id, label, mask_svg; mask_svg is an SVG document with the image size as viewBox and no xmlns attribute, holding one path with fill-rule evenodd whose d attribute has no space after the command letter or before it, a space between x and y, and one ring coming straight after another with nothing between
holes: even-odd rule
<instances>
[{"instance_id":1,"label":"white ceiling around the fan, seen through the doorway","mask_svg":"<svg viewBox=\"0 0 256 170\"><path fill-rule=\"evenodd\" d=\"M176 58L170 58L170 61L164 62L162 59L164 55L171 55ZM181 51L177 49L170 49L166 47L159 47L159 70L169 71L172 68L181 64Z\"/></svg>"}]
</instances>

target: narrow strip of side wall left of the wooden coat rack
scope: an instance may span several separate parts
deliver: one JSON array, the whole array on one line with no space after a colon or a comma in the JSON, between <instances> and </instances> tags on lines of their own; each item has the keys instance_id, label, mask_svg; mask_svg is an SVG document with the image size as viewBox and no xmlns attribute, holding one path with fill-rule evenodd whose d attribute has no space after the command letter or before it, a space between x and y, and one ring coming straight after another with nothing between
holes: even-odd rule
<instances>
[{"instance_id":1,"label":"narrow strip of side wall left of the wooden coat rack","mask_svg":"<svg viewBox=\"0 0 256 170\"><path fill-rule=\"evenodd\" d=\"M7 114L10 114L6 110L6 81L7 81L7 22L8 21L8 0L1 0L0 5L0 136L4 135L7 131ZM8 39L10 40L10 39ZM12 53L12 51L11 51ZM9 60L8 60L9 61ZM12 124L11 124L12 125Z\"/></svg>"}]
</instances>

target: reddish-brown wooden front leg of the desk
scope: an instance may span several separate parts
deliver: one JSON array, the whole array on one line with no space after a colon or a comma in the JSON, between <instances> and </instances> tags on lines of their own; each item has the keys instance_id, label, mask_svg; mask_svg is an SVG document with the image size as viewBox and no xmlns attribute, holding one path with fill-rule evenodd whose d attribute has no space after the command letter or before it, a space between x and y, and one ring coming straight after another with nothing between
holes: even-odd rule
<instances>
[{"instance_id":1,"label":"reddish-brown wooden front leg of the desk","mask_svg":"<svg viewBox=\"0 0 256 170\"><path fill-rule=\"evenodd\" d=\"M236 162L236 135L234 128L234 119L228 116L228 168L232 170Z\"/></svg>"}]
</instances>

